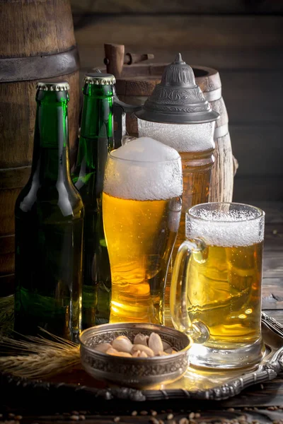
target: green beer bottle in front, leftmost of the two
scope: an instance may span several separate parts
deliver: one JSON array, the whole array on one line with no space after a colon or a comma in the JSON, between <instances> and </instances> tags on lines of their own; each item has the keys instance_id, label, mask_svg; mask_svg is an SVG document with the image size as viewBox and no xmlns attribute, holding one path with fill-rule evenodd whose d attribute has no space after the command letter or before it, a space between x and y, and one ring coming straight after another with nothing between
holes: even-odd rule
<instances>
[{"instance_id":1,"label":"green beer bottle in front, leftmost of the two","mask_svg":"<svg viewBox=\"0 0 283 424\"><path fill-rule=\"evenodd\" d=\"M69 84L37 84L30 179L16 200L15 329L72 341L81 330L83 202L71 181Z\"/></svg>"}]
</instances>

